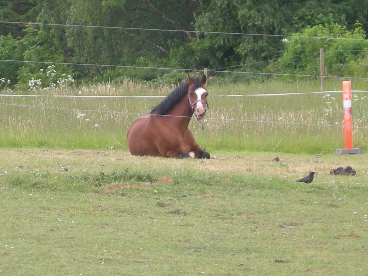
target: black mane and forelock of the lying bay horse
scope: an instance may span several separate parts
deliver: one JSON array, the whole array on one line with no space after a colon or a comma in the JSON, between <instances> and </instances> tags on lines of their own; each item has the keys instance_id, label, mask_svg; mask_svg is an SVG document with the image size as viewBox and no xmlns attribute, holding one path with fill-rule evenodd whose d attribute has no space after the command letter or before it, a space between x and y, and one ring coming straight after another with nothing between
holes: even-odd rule
<instances>
[{"instance_id":1,"label":"black mane and forelock of the lying bay horse","mask_svg":"<svg viewBox=\"0 0 368 276\"><path fill-rule=\"evenodd\" d=\"M194 79L194 90L201 87L201 80L199 78ZM187 95L189 89L188 81L178 86L173 92L171 92L162 102L153 107L150 114L165 115L170 112L173 107L180 102L185 95Z\"/></svg>"}]
</instances>

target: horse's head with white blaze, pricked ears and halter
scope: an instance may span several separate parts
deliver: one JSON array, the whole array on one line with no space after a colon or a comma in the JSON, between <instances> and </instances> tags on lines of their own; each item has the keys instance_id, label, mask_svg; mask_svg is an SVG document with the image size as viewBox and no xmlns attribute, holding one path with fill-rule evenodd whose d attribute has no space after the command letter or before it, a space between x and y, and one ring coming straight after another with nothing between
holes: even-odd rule
<instances>
[{"instance_id":1,"label":"horse's head with white blaze, pricked ears and halter","mask_svg":"<svg viewBox=\"0 0 368 276\"><path fill-rule=\"evenodd\" d=\"M194 113L194 116L197 120L201 120L206 114L206 105L207 103L207 89L205 88L205 83L207 81L206 75L202 76L202 79L199 83L199 79L194 80L188 75L188 100L189 105Z\"/></svg>"}]
</instances>

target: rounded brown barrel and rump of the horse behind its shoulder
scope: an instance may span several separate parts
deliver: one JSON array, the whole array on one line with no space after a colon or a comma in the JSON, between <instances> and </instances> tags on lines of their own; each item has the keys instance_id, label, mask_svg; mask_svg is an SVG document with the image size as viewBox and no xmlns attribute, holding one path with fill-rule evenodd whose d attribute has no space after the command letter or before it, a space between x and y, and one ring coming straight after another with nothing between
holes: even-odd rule
<instances>
[{"instance_id":1,"label":"rounded brown barrel and rump of the horse behind its shoulder","mask_svg":"<svg viewBox=\"0 0 368 276\"><path fill-rule=\"evenodd\" d=\"M149 126L150 116L142 116L135 120L128 130L127 147L132 155L160 156L153 146L152 127Z\"/></svg>"}]
</instances>

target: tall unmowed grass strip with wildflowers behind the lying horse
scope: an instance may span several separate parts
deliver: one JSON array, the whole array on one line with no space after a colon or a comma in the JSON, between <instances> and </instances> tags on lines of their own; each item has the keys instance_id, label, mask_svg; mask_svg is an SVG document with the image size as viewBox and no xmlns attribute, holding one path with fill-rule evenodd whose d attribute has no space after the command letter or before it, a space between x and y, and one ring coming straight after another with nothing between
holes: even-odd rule
<instances>
[{"instance_id":1,"label":"tall unmowed grass strip with wildflowers behind the lying horse","mask_svg":"<svg viewBox=\"0 0 368 276\"><path fill-rule=\"evenodd\" d=\"M212 82L211 82L212 81ZM210 108L205 129L191 120L197 142L208 151L332 152L343 148L342 100L339 93L268 97L217 97L218 95L319 91L319 81L270 79L245 83L211 80ZM354 81L352 89L366 89ZM170 87L156 87L124 79L83 87L59 87L36 95L167 95ZM341 90L341 81L328 80L325 90ZM0 145L60 149L125 149L131 123L161 99L9 98L0 97ZM354 146L367 150L368 96L353 95Z\"/></svg>"}]
</instances>

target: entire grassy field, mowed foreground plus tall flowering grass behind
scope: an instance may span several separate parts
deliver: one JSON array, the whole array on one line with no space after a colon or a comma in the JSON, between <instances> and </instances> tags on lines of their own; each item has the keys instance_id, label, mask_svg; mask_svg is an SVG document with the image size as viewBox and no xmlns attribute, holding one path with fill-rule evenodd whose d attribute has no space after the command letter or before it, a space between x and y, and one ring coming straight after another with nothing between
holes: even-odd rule
<instances>
[{"instance_id":1,"label":"entire grassy field, mowed foreground plus tall flowering grass behind","mask_svg":"<svg viewBox=\"0 0 368 276\"><path fill-rule=\"evenodd\" d=\"M364 155L333 154L343 147L339 93L224 97L319 83L212 76L205 128L190 128L213 158L141 158L127 152L126 132L160 98L68 96L165 96L173 79L76 85L54 71L42 79L47 71L27 89L2 86L1 275L368 270L368 171ZM367 105L367 94L353 95L354 143L364 150ZM357 176L329 173L347 165ZM311 170L311 184L295 181Z\"/></svg>"}]
</instances>

